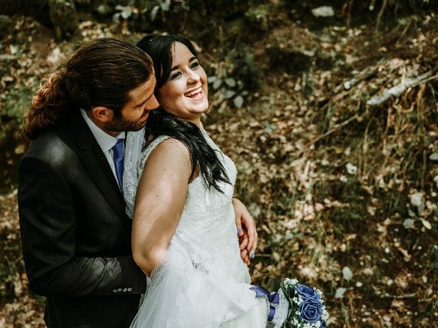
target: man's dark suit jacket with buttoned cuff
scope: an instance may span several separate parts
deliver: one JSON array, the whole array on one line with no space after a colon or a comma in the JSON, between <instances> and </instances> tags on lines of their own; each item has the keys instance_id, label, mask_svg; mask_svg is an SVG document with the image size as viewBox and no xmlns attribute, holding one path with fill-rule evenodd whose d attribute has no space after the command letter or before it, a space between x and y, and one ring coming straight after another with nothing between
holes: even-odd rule
<instances>
[{"instance_id":1,"label":"man's dark suit jacket with buttoned cuff","mask_svg":"<svg viewBox=\"0 0 438 328\"><path fill-rule=\"evenodd\" d=\"M131 219L80 113L38 136L18 185L30 289L52 327L129 327L146 276L133 262Z\"/></svg>"}]
</instances>

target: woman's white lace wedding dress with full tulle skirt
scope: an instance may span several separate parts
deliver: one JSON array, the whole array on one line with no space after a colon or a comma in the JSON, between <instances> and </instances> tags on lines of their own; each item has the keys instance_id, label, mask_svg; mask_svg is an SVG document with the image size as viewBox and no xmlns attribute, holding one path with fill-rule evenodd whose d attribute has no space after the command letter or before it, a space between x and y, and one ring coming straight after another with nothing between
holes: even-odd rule
<instances>
[{"instance_id":1,"label":"woman's white lace wedding dress with full tulle skirt","mask_svg":"<svg viewBox=\"0 0 438 328\"><path fill-rule=\"evenodd\" d=\"M221 182L220 193L209 189L201 174L190 182L166 260L153 269L132 328L266 327L269 303L263 297L256 299L249 289L248 268L240 258L231 203L237 171L233 161L201 131L216 150L231 184ZM126 141L123 180L131 217L144 164L153 149L169 138L159 136L142 150L143 135L143 130L128 133Z\"/></svg>"}]
</instances>

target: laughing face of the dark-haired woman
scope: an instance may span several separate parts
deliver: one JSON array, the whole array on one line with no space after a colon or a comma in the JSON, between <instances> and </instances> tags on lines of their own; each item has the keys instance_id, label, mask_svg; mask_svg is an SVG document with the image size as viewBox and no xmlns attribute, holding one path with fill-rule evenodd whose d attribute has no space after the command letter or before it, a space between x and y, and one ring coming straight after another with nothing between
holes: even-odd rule
<instances>
[{"instance_id":1,"label":"laughing face of the dark-haired woman","mask_svg":"<svg viewBox=\"0 0 438 328\"><path fill-rule=\"evenodd\" d=\"M175 42L169 79L157 92L162 107L177 118L199 124L208 109L207 74L187 46Z\"/></svg>"}]
</instances>

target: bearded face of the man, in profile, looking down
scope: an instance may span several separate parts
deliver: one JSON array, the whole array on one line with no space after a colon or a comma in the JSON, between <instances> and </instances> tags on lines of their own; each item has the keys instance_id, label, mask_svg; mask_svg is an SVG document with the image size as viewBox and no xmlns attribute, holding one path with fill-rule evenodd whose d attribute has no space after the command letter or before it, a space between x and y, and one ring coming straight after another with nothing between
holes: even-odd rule
<instances>
[{"instance_id":1,"label":"bearded face of the man, in profile, looking down","mask_svg":"<svg viewBox=\"0 0 438 328\"><path fill-rule=\"evenodd\" d=\"M125 104L121 115L114 115L110 122L106 122L105 130L113 132L138 131L145 124L152 109L158 107L155 98L155 75L136 89L129 92L130 100Z\"/></svg>"}]
</instances>

